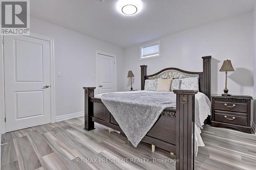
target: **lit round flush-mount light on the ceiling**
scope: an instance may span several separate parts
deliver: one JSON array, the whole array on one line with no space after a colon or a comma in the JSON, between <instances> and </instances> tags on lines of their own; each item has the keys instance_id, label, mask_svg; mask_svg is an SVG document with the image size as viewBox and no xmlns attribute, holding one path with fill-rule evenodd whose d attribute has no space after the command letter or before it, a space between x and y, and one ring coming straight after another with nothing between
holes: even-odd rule
<instances>
[{"instance_id":1,"label":"lit round flush-mount light on the ceiling","mask_svg":"<svg viewBox=\"0 0 256 170\"><path fill-rule=\"evenodd\" d=\"M131 16L142 10L142 2L141 0L119 0L116 7L121 14Z\"/></svg>"}]
</instances>

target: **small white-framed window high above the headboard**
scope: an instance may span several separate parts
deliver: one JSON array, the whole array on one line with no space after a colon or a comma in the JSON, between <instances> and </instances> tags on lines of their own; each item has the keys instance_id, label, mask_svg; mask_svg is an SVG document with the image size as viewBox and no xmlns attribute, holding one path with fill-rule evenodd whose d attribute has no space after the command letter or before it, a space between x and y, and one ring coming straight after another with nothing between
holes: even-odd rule
<instances>
[{"instance_id":1,"label":"small white-framed window high above the headboard","mask_svg":"<svg viewBox=\"0 0 256 170\"><path fill-rule=\"evenodd\" d=\"M140 60L160 57L160 41L140 46Z\"/></svg>"}]
</instances>

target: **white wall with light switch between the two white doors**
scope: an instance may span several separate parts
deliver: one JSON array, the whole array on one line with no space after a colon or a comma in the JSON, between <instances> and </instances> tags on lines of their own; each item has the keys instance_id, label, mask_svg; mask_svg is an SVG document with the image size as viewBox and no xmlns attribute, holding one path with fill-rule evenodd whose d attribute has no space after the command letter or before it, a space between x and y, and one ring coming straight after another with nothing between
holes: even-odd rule
<instances>
[{"instance_id":1,"label":"white wall with light switch between the two white doors","mask_svg":"<svg viewBox=\"0 0 256 170\"><path fill-rule=\"evenodd\" d=\"M117 79L123 75L123 48L101 40L53 25L52 23L31 18L31 33L54 38L55 41L55 85L56 116L84 110L82 87L96 86L96 50L117 56ZM62 77L57 77L57 71ZM91 78L92 74L95 78ZM121 83L117 84L120 90Z\"/></svg>"}]
</instances>

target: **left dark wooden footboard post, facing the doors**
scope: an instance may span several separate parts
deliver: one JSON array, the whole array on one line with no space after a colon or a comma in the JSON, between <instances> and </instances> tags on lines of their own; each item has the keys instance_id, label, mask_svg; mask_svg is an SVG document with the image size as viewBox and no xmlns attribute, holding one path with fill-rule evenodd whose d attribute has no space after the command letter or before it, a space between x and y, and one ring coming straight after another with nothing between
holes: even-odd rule
<instances>
[{"instance_id":1,"label":"left dark wooden footboard post, facing the doors","mask_svg":"<svg viewBox=\"0 0 256 170\"><path fill-rule=\"evenodd\" d=\"M83 87L84 89L84 130L91 131L94 128L94 122L92 121L93 115L93 102L90 102L90 98L94 97L94 89L96 87Z\"/></svg>"}]
</instances>

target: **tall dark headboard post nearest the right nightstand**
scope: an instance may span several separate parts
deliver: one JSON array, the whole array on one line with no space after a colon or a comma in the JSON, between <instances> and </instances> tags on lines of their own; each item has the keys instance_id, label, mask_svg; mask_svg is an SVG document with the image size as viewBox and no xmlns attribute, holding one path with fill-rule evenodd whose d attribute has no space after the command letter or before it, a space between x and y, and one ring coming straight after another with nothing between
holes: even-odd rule
<instances>
[{"instance_id":1,"label":"tall dark headboard post nearest the right nightstand","mask_svg":"<svg viewBox=\"0 0 256 170\"><path fill-rule=\"evenodd\" d=\"M202 57L203 59L203 74L204 74L204 93L210 98L210 60L211 56Z\"/></svg>"}]
</instances>

